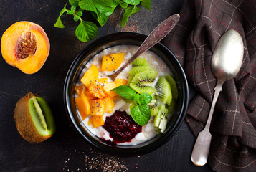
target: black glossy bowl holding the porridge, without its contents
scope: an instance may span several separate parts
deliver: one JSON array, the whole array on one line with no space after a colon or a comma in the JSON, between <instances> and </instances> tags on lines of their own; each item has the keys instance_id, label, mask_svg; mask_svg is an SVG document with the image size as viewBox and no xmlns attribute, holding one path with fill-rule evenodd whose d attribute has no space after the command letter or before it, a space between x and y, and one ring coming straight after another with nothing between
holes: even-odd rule
<instances>
[{"instance_id":1,"label":"black glossy bowl holding the porridge, without its contents","mask_svg":"<svg viewBox=\"0 0 256 172\"><path fill-rule=\"evenodd\" d=\"M148 153L160 148L161 145L166 143L174 135L174 133L176 133L186 115L186 109L189 101L189 89L184 70L174 54L161 43L156 44L150 50L161 57L161 59L163 59L163 61L169 66L179 90L179 97L176 103L175 113L167 124L166 130L162 135L157 135L155 138L138 145L108 145L96 135L90 133L90 131L87 130L85 125L82 123L80 115L77 114L74 99L75 83L79 79L81 70L85 67L87 62L89 62L95 54L98 54L103 49L120 44L132 44L139 46L145 39L145 35L131 32L115 33L102 37L83 49L82 52L77 55L70 67L70 70L67 72L64 87L64 99L65 108L70 120L72 121L73 125L75 125L77 131L82 135L83 138L85 138L85 140L95 145L97 148L111 154L119 156L133 156Z\"/></svg>"}]
</instances>

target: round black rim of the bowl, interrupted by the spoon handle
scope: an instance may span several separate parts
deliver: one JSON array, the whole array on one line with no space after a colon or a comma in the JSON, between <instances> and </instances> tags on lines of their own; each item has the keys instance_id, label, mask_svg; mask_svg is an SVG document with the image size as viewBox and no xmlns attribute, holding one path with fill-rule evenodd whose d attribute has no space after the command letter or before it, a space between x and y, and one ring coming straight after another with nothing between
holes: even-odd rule
<instances>
[{"instance_id":1,"label":"round black rim of the bowl, interrupted by the spoon handle","mask_svg":"<svg viewBox=\"0 0 256 172\"><path fill-rule=\"evenodd\" d=\"M80 127L79 123L77 122L77 120L75 120L74 115L72 115L72 108L70 105L69 91L70 91L70 87L72 86L72 83L70 83L70 82L72 81L72 78L74 77L74 75L76 73L76 72L74 73L74 70L77 70L77 65L79 65L78 62L80 62L81 58L85 59L84 54L86 54L86 52L90 52L91 49L95 49L95 47L98 47L99 42L108 44L109 40L113 39L113 37L128 37L128 36L135 36L140 39L146 39L146 37L147 37L145 34L139 34L139 33L134 33L134 32L117 32L117 33L108 34L108 35L105 35L98 39L95 39L94 42L88 44L84 49L82 49L82 51L79 54L77 54L77 57L75 57L74 61L70 65L70 68L69 68L66 78L65 78L64 90L63 90L64 105L65 105L66 113L68 115L69 120L71 120L71 123L75 126L76 130L80 133L80 135L82 135L82 138L87 140L88 143L90 143L91 145L94 145L96 148L100 148L100 150L102 150L106 153L116 155L116 156L137 156L137 155L149 153L151 151L155 151L157 148L160 148L176 133L176 131L181 126L181 123L183 123L185 115L186 115L186 110L187 110L188 104L189 104L189 86L188 86L188 82L186 80L186 75L185 75L183 68L181 67L179 60L176 59L175 55L171 52L171 50L168 49L161 42L158 42L158 44L156 44L156 45L160 46L166 52L168 52L169 54L171 54L174 57L173 60L176 63L175 65L178 65L178 68L180 70L179 74L181 75L181 80L182 80L181 82L183 82L183 85L182 85L183 87L181 88L181 90L182 90L184 96L182 97L182 105L181 105L180 115L177 119L177 122L173 126L171 132L166 133L164 135L164 137L159 137L155 142L149 143L148 145L146 145L144 147L140 147L140 148L118 148L118 147L113 147L110 145L105 145L103 143L98 142L97 140L94 140L94 139L91 140L90 135L85 135L85 133L83 133L82 128ZM126 39L128 39L128 38L126 38ZM87 136L89 136L90 138L87 138Z\"/></svg>"}]
</instances>

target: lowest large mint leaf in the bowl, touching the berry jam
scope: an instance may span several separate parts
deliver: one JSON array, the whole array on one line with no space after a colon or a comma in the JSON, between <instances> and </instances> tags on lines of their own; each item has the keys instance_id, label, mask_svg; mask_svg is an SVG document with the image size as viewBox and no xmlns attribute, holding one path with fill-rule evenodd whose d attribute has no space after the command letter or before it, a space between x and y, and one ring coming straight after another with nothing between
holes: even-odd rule
<instances>
[{"instance_id":1,"label":"lowest large mint leaf in the bowl, touching the berry jam","mask_svg":"<svg viewBox=\"0 0 256 172\"><path fill-rule=\"evenodd\" d=\"M138 125L146 125L151 117L148 105L138 105L131 109L131 117Z\"/></svg>"}]
</instances>

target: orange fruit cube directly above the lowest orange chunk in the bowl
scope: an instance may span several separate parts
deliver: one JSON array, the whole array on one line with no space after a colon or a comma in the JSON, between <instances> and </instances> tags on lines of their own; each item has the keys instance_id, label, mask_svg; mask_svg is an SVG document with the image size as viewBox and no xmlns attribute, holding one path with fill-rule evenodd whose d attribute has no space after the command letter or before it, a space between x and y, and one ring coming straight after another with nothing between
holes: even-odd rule
<instances>
[{"instance_id":1,"label":"orange fruit cube directly above the lowest orange chunk in the bowl","mask_svg":"<svg viewBox=\"0 0 256 172\"><path fill-rule=\"evenodd\" d=\"M90 115L103 115L105 113L105 105L103 99L90 100Z\"/></svg>"}]
</instances>

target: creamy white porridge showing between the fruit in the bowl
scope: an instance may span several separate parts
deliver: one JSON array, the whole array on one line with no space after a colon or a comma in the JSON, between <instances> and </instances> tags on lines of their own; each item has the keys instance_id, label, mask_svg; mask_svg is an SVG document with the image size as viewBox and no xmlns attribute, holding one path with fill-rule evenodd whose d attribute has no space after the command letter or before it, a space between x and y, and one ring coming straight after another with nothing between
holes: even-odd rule
<instances>
[{"instance_id":1,"label":"creamy white porridge showing between the fruit in the bowl","mask_svg":"<svg viewBox=\"0 0 256 172\"><path fill-rule=\"evenodd\" d=\"M93 59L91 59L90 62L88 62L85 65L85 68L82 70L80 74L80 79L82 78L84 73L91 67L91 65L96 65L98 67L99 77L107 77L106 75L109 75L112 72L105 72L101 70L100 66L101 66L103 55L125 52L125 57L123 59L122 64L120 65L122 66L125 62L127 62L128 59L131 58L132 54L136 52L136 49L138 49L138 46L134 46L134 45L117 45L115 47L104 49L102 52L96 54L93 57ZM150 63L150 65L153 67L153 69L158 71L158 77L161 75L166 75L167 73L171 73L166 63L163 62L163 60L160 57L158 57L155 53L151 51L147 51L141 54L140 57L142 57L143 59L146 59ZM128 80L128 77L129 77L128 72L131 70L131 68L132 68L131 65L126 67L126 69L123 70L123 72L121 72L120 75L118 75L118 78ZM108 78L108 80L110 81L110 78ZM80 82L79 80L79 82L77 82L77 85L82 85L82 82ZM115 100L115 107L113 109L113 113L115 112L115 110L125 110L126 113L130 114L129 105L126 104L121 98L118 98L117 100ZM79 113L78 110L77 110L77 113ZM107 116L113 115L113 113L104 113L103 120L105 120ZM104 140L113 141L113 138L110 137L108 131L105 130L102 126L98 128L93 128L93 125L88 125L89 119L90 119L90 115L87 118L85 118L85 120L83 120L82 123L85 125L85 127L88 130L90 130L91 133L93 133L94 135L97 135L99 138L103 138ZM139 143L143 143L146 140L150 140L155 136L156 136L156 133L153 128L153 118L151 118L148 124L142 127L141 133L138 133L136 137L131 140L131 142L118 143L118 145L136 145Z\"/></svg>"}]
</instances>

